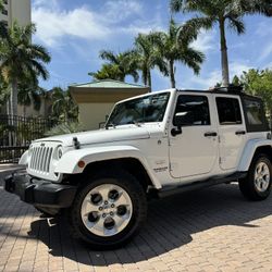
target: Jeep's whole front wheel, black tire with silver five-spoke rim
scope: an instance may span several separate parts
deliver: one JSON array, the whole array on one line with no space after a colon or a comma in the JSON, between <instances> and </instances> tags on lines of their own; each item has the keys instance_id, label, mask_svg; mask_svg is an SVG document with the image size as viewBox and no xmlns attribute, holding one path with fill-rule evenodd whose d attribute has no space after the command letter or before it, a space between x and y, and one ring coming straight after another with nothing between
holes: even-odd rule
<instances>
[{"instance_id":1,"label":"Jeep's whole front wheel, black tire with silver five-spoke rim","mask_svg":"<svg viewBox=\"0 0 272 272\"><path fill-rule=\"evenodd\" d=\"M73 233L95 249L124 245L146 219L143 186L124 171L86 178L70 211Z\"/></svg>"}]
</instances>

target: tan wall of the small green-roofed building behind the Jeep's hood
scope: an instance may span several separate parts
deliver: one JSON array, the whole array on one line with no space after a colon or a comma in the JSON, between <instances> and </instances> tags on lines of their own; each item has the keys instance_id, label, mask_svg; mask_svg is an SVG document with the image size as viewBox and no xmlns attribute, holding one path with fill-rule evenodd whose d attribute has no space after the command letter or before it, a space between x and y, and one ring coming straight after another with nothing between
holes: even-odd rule
<instances>
[{"instance_id":1,"label":"tan wall of the small green-roofed building behind the Jeep's hood","mask_svg":"<svg viewBox=\"0 0 272 272\"><path fill-rule=\"evenodd\" d=\"M79 103L79 122L86 131L99 128L99 123L106 121L114 103Z\"/></svg>"}]
</instances>

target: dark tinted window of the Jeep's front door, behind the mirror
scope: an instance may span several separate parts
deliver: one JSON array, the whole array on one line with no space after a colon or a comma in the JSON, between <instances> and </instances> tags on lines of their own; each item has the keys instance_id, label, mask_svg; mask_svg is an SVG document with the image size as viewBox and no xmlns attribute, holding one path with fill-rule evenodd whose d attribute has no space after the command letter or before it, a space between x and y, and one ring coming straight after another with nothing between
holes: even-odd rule
<instances>
[{"instance_id":1,"label":"dark tinted window of the Jeep's front door, behind the mirror","mask_svg":"<svg viewBox=\"0 0 272 272\"><path fill-rule=\"evenodd\" d=\"M182 116L182 125L210 125L209 102L206 96L180 96L175 116ZM175 119L173 121L175 124Z\"/></svg>"}]
</instances>

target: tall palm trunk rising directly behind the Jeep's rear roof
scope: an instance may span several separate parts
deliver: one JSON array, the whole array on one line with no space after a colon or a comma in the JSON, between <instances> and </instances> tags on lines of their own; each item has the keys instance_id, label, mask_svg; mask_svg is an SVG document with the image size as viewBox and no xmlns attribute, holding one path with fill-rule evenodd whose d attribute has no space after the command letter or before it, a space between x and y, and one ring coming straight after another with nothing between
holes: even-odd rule
<instances>
[{"instance_id":1,"label":"tall palm trunk rising directly behind the Jeep's rear roof","mask_svg":"<svg viewBox=\"0 0 272 272\"><path fill-rule=\"evenodd\" d=\"M225 40L225 21L222 18L219 22L220 27L220 44L221 44L221 66L222 66L222 86L227 87L230 84L227 47Z\"/></svg>"}]
</instances>

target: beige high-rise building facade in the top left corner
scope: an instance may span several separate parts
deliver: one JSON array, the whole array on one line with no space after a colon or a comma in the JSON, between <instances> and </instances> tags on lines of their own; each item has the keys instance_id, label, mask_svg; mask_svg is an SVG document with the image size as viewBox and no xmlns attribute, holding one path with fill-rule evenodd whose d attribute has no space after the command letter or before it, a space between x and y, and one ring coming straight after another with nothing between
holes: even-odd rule
<instances>
[{"instance_id":1,"label":"beige high-rise building facade in the top left corner","mask_svg":"<svg viewBox=\"0 0 272 272\"><path fill-rule=\"evenodd\" d=\"M7 26L11 26L15 21L22 26L32 22L30 0L3 0L3 4L0 22L4 22Z\"/></svg>"}]
</instances>

